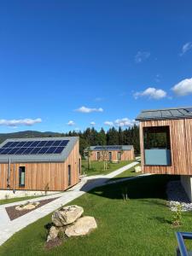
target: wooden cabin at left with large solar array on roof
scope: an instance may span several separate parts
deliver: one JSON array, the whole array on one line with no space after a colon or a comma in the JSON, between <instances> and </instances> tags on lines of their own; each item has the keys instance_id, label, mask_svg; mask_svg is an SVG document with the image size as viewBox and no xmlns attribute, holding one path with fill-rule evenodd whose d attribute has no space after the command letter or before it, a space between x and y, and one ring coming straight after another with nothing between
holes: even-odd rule
<instances>
[{"instance_id":1,"label":"wooden cabin at left with large solar array on roof","mask_svg":"<svg viewBox=\"0 0 192 256\"><path fill-rule=\"evenodd\" d=\"M8 139L0 145L0 189L63 191L79 183L80 161L79 137Z\"/></svg>"}]
</instances>

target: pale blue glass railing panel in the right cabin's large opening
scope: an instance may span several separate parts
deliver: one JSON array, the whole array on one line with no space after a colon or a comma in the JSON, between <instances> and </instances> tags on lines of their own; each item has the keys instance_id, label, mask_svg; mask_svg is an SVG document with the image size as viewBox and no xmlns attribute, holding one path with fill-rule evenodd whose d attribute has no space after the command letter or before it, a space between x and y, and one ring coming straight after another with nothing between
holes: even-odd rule
<instances>
[{"instance_id":1,"label":"pale blue glass railing panel in the right cabin's large opening","mask_svg":"<svg viewBox=\"0 0 192 256\"><path fill-rule=\"evenodd\" d=\"M146 166L171 166L171 150L166 148L145 149Z\"/></svg>"}]
</instances>

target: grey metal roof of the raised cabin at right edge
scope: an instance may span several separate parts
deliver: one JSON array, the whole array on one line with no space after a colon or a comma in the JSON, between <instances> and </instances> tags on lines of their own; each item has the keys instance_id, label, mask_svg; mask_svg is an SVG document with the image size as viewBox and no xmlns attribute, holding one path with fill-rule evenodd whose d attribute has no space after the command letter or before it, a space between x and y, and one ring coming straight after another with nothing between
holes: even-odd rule
<instances>
[{"instance_id":1,"label":"grey metal roof of the raised cabin at right edge","mask_svg":"<svg viewBox=\"0 0 192 256\"><path fill-rule=\"evenodd\" d=\"M154 119L191 119L192 107L185 108L162 108L143 110L138 116L138 121Z\"/></svg>"}]
</instances>

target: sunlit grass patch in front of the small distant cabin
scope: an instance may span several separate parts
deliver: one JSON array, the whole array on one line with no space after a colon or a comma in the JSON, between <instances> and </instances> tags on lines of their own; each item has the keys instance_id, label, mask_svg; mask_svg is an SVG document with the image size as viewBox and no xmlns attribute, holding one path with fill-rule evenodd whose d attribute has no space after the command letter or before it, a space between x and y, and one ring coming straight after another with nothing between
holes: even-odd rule
<instances>
[{"instance_id":1,"label":"sunlit grass patch in front of the small distant cabin","mask_svg":"<svg viewBox=\"0 0 192 256\"><path fill-rule=\"evenodd\" d=\"M113 172L120 167L126 166L130 164L131 161L120 161L119 163L108 163L108 170L103 170L103 162L102 161L91 161L91 168L88 170L87 168L87 160L82 160L82 173L86 174L87 176L90 175L98 175L98 174L108 174Z\"/></svg>"}]
</instances>

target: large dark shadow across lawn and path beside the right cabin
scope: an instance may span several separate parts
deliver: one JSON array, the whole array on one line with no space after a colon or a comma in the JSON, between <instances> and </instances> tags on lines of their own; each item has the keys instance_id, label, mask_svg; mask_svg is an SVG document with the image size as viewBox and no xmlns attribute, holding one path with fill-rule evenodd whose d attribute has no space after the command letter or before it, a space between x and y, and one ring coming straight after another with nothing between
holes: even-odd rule
<instances>
[{"instance_id":1,"label":"large dark shadow across lawn and path beside the right cabin","mask_svg":"<svg viewBox=\"0 0 192 256\"><path fill-rule=\"evenodd\" d=\"M109 199L122 199L122 191L126 190L130 199L166 199L166 184L168 181L177 179L177 176L171 175L151 175L147 177L137 177L119 183L112 183L99 186L100 183L106 183L107 178L97 178L82 187L82 191L88 194L106 197ZM122 180L122 178L120 178ZM119 178L113 178L118 181ZM93 188L96 186L96 188Z\"/></svg>"}]
</instances>

